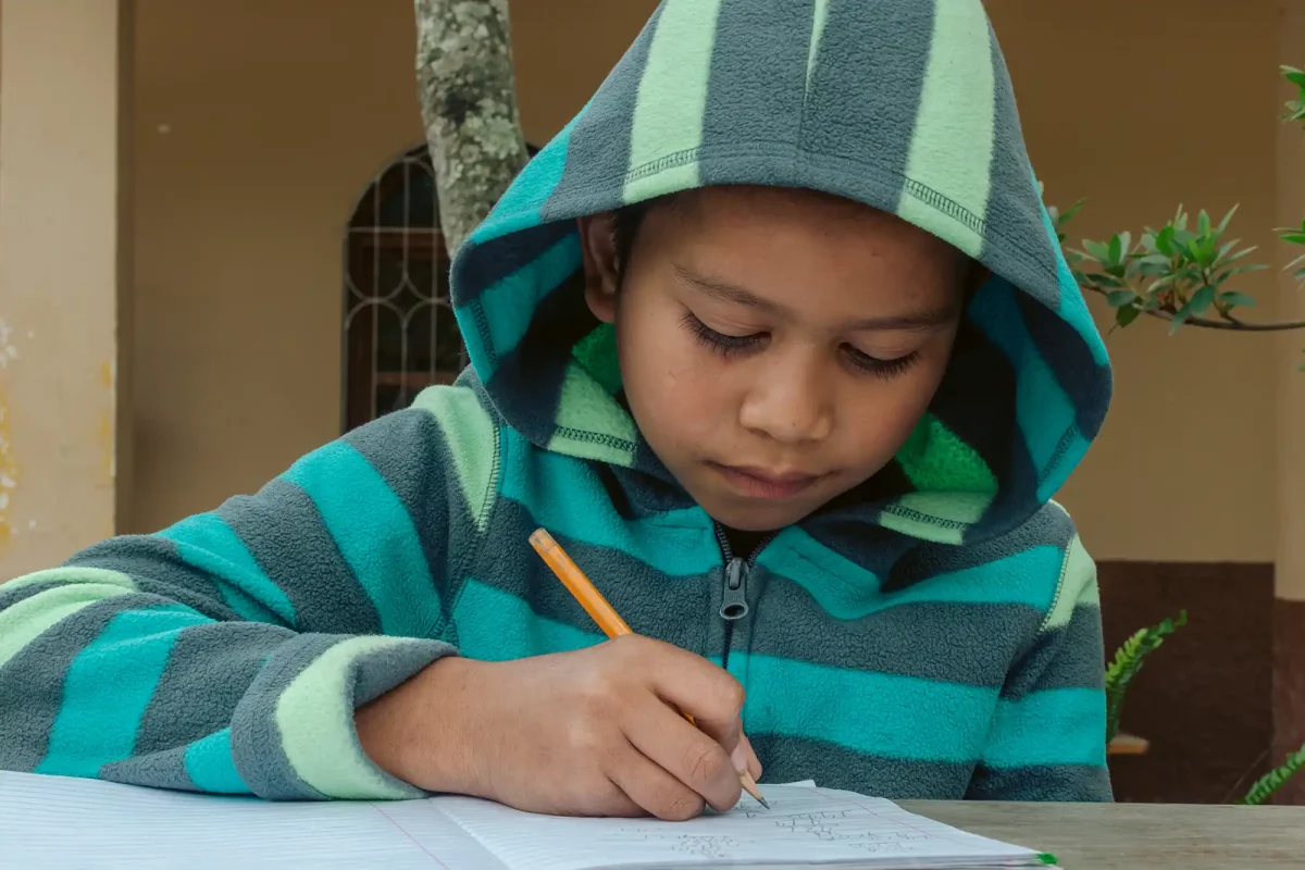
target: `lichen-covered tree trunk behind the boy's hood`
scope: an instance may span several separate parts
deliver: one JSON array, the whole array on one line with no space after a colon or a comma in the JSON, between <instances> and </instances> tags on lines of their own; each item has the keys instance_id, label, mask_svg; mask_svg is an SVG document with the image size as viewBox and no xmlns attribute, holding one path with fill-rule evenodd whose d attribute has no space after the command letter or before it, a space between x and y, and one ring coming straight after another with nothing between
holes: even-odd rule
<instances>
[{"instance_id":1,"label":"lichen-covered tree trunk behind the boy's hood","mask_svg":"<svg viewBox=\"0 0 1305 870\"><path fill-rule=\"evenodd\" d=\"M452 254L526 164L508 0L415 0L418 97Z\"/></svg>"}]
</instances>

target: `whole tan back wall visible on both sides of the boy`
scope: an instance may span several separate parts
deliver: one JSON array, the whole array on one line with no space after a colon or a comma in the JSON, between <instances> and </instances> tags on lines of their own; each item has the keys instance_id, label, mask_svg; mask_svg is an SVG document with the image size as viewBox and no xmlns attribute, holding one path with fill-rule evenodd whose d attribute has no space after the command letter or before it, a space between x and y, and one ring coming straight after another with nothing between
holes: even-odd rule
<instances>
[{"instance_id":1,"label":"whole tan back wall visible on both sides of the boy","mask_svg":"<svg viewBox=\"0 0 1305 870\"><path fill-rule=\"evenodd\" d=\"M1049 196L1090 197L1075 237L1163 222L1182 201L1241 202L1244 237L1267 240L1270 0L1201 14L1188 0L988 5ZM652 7L513 1L532 141L579 108ZM408 0L140 0L137 35L132 526L150 530L256 488L337 433L341 226L420 125ZM1158 94L1207 56L1218 123L1193 130L1184 102ZM1253 288L1270 292L1272 277ZM1274 342L1167 338L1142 322L1109 347L1114 408L1064 493L1094 554L1272 560Z\"/></svg>"}]
</instances>

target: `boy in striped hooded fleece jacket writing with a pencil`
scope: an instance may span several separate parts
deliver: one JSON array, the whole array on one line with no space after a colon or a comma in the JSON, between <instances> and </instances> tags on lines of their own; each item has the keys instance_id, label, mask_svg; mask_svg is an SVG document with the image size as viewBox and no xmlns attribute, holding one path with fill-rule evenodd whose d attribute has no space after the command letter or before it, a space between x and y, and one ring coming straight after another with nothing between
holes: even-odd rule
<instances>
[{"instance_id":1,"label":"boy in striped hooded fleece jacket writing with a pencil","mask_svg":"<svg viewBox=\"0 0 1305 870\"><path fill-rule=\"evenodd\" d=\"M453 291L458 385L0 587L0 767L667 819L744 767L1109 798L1049 501L1109 368L979 0L667 0ZM641 637L599 643L539 526Z\"/></svg>"}]
</instances>

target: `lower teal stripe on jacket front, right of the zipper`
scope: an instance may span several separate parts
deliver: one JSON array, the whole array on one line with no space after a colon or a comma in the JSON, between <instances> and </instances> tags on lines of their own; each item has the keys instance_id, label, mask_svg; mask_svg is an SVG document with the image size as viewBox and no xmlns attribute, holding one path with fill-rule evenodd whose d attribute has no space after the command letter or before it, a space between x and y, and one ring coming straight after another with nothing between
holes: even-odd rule
<instances>
[{"instance_id":1,"label":"lower teal stripe on jacket front, right of the zipper","mask_svg":"<svg viewBox=\"0 0 1305 870\"><path fill-rule=\"evenodd\" d=\"M745 687L749 734L930 762L979 759L1000 691L761 655L748 660Z\"/></svg>"}]
</instances>

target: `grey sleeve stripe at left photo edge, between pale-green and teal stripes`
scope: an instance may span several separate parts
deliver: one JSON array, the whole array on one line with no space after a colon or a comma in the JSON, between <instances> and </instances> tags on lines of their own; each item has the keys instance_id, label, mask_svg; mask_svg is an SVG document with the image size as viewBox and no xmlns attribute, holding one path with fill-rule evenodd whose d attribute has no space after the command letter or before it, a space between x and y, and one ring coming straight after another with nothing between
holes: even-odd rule
<instances>
[{"instance_id":1,"label":"grey sleeve stripe at left photo edge, between pale-green and teal stripes","mask_svg":"<svg viewBox=\"0 0 1305 870\"><path fill-rule=\"evenodd\" d=\"M69 665L115 616L159 604L153 595L117 595L89 604L46 629L0 668L0 770L35 770L63 706Z\"/></svg>"}]
</instances>

